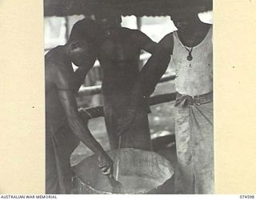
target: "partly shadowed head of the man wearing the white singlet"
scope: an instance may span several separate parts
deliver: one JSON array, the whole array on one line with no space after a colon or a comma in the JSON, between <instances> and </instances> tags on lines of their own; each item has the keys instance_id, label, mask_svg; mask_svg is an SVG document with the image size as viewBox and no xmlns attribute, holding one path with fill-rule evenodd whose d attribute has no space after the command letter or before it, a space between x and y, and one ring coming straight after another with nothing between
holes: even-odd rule
<instances>
[{"instance_id":1,"label":"partly shadowed head of the man wearing the white singlet","mask_svg":"<svg viewBox=\"0 0 256 200\"><path fill-rule=\"evenodd\" d=\"M170 19L179 31L184 31L200 22L197 10L179 10L170 15Z\"/></svg>"}]
</instances>

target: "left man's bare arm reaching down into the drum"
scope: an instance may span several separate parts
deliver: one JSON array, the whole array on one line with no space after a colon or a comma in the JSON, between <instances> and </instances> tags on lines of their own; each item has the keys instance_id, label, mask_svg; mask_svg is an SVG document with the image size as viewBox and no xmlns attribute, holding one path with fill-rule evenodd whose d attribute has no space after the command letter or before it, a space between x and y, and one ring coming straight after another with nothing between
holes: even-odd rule
<instances>
[{"instance_id":1,"label":"left man's bare arm reaching down into the drum","mask_svg":"<svg viewBox=\"0 0 256 200\"><path fill-rule=\"evenodd\" d=\"M70 130L90 150L97 154L98 164L103 168L103 174L110 174L113 166L112 160L102 149L102 146L95 140L78 113L78 106L74 96L74 84L71 84L74 80L70 80L74 79L74 76L70 73L69 69L66 70L65 67L61 66L58 67L54 77L55 84L58 87L58 97L65 110Z\"/></svg>"}]
</instances>

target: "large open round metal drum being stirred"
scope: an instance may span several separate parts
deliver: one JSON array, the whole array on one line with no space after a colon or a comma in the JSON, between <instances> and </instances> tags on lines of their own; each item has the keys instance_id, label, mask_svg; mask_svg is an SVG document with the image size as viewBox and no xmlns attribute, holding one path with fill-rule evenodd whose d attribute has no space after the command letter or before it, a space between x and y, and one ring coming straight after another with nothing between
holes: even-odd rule
<instances>
[{"instance_id":1,"label":"large open round metal drum being stirred","mask_svg":"<svg viewBox=\"0 0 256 200\"><path fill-rule=\"evenodd\" d=\"M124 148L107 152L116 162L119 158L118 194L173 194L174 169L170 162L154 152ZM103 175L92 155L74 166L78 194L117 194L110 179Z\"/></svg>"}]
</instances>

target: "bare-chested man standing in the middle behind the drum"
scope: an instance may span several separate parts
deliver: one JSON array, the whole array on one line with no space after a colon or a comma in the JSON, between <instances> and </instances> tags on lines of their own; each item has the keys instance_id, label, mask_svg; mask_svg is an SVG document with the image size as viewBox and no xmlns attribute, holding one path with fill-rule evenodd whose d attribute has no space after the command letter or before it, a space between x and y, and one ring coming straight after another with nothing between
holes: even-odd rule
<instances>
[{"instance_id":1,"label":"bare-chested man standing in the middle behind the drum","mask_svg":"<svg viewBox=\"0 0 256 200\"><path fill-rule=\"evenodd\" d=\"M118 148L118 135L122 134L122 148L151 150L146 97L154 91L161 77L158 76L161 58L156 56L161 50L140 30L122 27L121 16L113 10L96 14L96 22L102 29L98 60L104 75L102 94L110 148ZM138 63L141 50L153 56L140 71ZM162 66L162 71L165 71L166 66ZM159 69L155 70L157 67ZM146 72L149 70L156 74L146 85L149 78Z\"/></svg>"}]
</instances>

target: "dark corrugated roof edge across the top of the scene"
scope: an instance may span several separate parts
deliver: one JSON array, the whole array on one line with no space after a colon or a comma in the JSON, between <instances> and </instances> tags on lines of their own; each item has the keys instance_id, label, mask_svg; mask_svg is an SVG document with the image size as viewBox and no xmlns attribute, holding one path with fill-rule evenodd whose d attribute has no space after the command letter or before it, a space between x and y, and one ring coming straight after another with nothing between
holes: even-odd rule
<instances>
[{"instance_id":1,"label":"dark corrugated roof edge across the top of the scene","mask_svg":"<svg viewBox=\"0 0 256 200\"><path fill-rule=\"evenodd\" d=\"M45 16L91 15L109 8L124 16L163 16L183 8L212 10L212 0L44 0Z\"/></svg>"}]
</instances>

